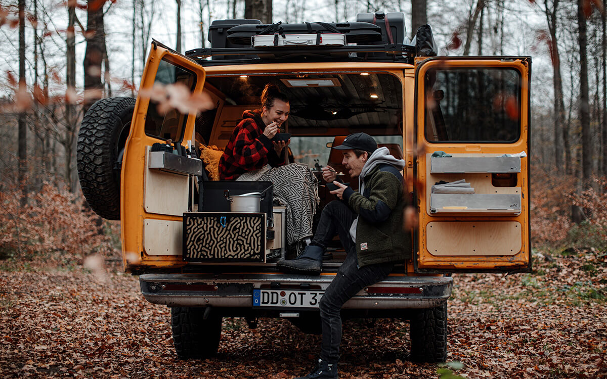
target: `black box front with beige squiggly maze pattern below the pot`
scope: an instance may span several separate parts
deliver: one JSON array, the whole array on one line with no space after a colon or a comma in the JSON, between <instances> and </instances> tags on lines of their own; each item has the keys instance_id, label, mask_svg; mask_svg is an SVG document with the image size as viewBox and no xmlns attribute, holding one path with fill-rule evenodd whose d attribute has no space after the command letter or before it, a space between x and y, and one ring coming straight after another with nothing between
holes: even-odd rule
<instances>
[{"instance_id":1,"label":"black box front with beige squiggly maze pattern below the pot","mask_svg":"<svg viewBox=\"0 0 607 379\"><path fill-rule=\"evenodd\" d=\"M265 213L186 213L184 220L184 260L264 260Z\"/></svg>"}]
</instances>

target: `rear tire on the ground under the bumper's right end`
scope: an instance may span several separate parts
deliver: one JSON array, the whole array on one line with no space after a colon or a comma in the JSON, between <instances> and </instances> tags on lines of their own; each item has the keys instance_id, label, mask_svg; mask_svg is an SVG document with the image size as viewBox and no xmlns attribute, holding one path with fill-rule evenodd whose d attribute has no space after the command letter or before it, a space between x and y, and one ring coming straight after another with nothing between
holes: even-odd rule
<instances>
[{"instance_id":1,"label":"rear tire on the ground under the bumper's right end","mask_svg":"<svg viewBox=\"0 0 607 379\"><path fill-rule=\"evenodd\" d=\"M447 302L435 308L414 309L410 320L411 360L447 360Z\"/></svg>"}]
</instances>

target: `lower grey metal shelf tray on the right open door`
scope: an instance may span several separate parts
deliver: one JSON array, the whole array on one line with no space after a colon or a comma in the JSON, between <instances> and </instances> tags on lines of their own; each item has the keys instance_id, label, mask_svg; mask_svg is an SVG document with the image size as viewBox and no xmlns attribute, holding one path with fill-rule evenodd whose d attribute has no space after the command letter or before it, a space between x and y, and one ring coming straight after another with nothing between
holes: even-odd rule
<instances>
[{"instance_id":1,"label":"lower grey metal shelf tray on the right open door","mask_svg":"<svg viewBox=\"0 0 607 379\"><path fill-rule=\"evenodd\" d=\"M473 215L476 213L518 215L521 213L521 195L432 193L430 195L430 213L436 215Z\"/></svg>"}]
</instances>

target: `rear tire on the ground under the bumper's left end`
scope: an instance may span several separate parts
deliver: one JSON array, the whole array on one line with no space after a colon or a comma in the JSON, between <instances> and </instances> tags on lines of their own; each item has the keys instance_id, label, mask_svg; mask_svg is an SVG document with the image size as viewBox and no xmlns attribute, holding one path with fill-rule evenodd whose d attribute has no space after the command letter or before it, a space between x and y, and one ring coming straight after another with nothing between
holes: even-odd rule
<instances>
[{"instance_id":1,"label":"rear tire on the ground under the bumper's left end","mask_svg":"<svg viewBox=\"0 0 607 379\"><path fill-rule=\"evenodd\" d=\"M177 357L205 359L217 354L222 317L216 312L204 319L205 308L171 308L171 329Z\"/></svg>"}]
</instances>

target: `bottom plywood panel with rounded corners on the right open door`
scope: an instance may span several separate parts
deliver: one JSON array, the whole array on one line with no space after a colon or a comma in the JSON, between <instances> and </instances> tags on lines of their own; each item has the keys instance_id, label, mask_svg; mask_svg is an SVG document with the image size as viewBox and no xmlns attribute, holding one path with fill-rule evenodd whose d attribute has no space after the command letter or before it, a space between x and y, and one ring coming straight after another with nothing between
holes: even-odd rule
<instances>
[{"instance_id":1,"label":"bottom plywood panel with rounded corners on the right open door","mask_svg":"<svg viewBox=\"0 0 607 379\"><path fill-rule=\"evenodd\" d=\"M426 246L438 256L516 255L521 233L517 221L434 221L426 226Z\"/></svg>"}]
</instances>

